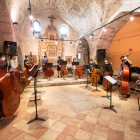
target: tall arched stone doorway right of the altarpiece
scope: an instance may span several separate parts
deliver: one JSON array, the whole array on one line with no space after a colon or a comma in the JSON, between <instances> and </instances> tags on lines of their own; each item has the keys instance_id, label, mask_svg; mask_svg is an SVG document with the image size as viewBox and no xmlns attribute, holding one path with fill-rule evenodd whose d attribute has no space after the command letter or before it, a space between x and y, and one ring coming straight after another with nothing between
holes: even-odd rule
<instances>
[{"instance_id":1,"label":"tall arched stone doorway right of the altarpiece","mask_svg":"<svg viewBox=\"0 0 140 140\"><path fill-rule=\"evenodd\" d=\"M90 59L90 50L88 42L85 38L79 41L77 48L78 59L81 65L87 65Z\"/></svg>"}]
</instances>

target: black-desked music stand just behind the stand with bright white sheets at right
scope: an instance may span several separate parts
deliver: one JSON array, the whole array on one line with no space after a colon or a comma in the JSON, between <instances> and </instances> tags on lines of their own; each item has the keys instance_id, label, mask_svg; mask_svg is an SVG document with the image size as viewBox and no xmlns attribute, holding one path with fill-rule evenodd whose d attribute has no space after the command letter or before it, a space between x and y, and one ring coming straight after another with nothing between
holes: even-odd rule
<instances>
[{"instance_id":1,"label":"black-desked music stand just behind the stand with bright white sheets at right","mask_svg":"<svg viewBox=\"0 0 140 140\"><path fill-rule=\"evenodd\" d=\"M103 73L105 73L105 72L113 72L112 67L109 64L103 65L102 68L103 68ZM108 81L107 81L107 91L106 92L107 92L106 96L101 96L101 97L106 97L106 98L108 98L110 100L110 98L109 98L110 96L108 96Z\"/></svg>"}]
</instances>

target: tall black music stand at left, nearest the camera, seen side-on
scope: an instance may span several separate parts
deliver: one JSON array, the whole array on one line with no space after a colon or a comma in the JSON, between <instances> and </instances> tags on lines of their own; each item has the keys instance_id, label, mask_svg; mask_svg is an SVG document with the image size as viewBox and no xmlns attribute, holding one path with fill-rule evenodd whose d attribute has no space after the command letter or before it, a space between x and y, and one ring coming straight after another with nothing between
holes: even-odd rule
<instances>
[{"instance_id":1,"label":"tall black music stand at left, nearest the camera, seen side-on","mask_svg":"<svg viewBox=\"0 0 140 140\"><path fill-rule=\"evenodd\" d=\"M34 119L30 120L27 124L29 124L29 123L31 123L31 122L33 122L33 121L35 121L35 120L46 121L45 119L39 118L39 117L38 117L38 114L37 114L37 98L36 98L37 86L36 86L36 82L37 82L37 74L38 74L39 70L40 70L40 69L38 68L37 71L36 71L36 73L34 74L34 76L29 78L29 79L34 78L34 83L35 83L35 84L34 84L34 85L35 85L35 86L34 86L34 90L35 90L36 116L35 116Z\"/></svg>"}]
</instances>

